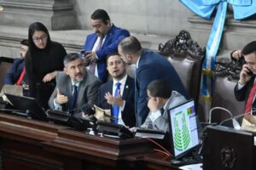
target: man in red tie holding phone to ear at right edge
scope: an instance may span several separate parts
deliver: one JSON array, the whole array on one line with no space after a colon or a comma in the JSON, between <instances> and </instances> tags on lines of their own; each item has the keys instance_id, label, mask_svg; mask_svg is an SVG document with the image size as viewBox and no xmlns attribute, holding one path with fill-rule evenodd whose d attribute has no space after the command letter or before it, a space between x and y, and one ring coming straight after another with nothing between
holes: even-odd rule
<instances>
[{"instance_id":1,"label":"man in red tie holding phone to ear at right edge","mask_svg":"<svg viewBox=\"0 0 256 170\"><path fill-rule=\"evenodd\" d=\"M235 87L235 96L238 101L247 101L245 114L256 115L256 41L248 43L241 50L241 56L244 56L247 64L242 66L240 78Z\"/></svg>"}]
</instances>

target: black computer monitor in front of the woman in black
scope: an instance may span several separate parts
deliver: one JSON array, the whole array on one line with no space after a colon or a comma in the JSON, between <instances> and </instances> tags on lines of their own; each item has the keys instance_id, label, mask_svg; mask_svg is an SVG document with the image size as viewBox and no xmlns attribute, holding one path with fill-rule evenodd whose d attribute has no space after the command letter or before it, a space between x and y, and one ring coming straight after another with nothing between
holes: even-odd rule
<instances>
[{"instance_id":1,"label":"black computer monitor in front of the woman in black","mask_svg":"<svg viewBox=\"0 0 256 170\"><path fill-rule=\"evenodd\" d=\"M15 109L24 111L27 113L27 116L31 117L32 119L47 121L46 113L44 109L38 104L36 99L15 94L5 95Z\"/></svg>"}]
</instances>

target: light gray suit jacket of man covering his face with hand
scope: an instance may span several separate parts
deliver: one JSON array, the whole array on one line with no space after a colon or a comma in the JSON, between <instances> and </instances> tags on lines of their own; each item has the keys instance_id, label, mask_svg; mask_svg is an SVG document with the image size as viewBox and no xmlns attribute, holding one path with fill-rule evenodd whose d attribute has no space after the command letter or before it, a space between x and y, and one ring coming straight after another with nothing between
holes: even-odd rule
<instances>
[{"instance_id":1,"label":"light gray suit jacket of man covering his face with hand","mask_svg":"<svg viewBox=\"0 0 256 170\"><path fill-rule=\"evenodd\" d=\"M176 91L172 91L172 95L167 101L166 110L163 113L163 116L159 116L154 122L151 121L149 116L151 116L152 112L149 112L146 121L143 123L141 127L162 130L164 132L169 130L169 121L168 121L168 110L176 105L183 104L187 99L183 97L182 94L177 93Z\"/></svg>"}]
</instances>

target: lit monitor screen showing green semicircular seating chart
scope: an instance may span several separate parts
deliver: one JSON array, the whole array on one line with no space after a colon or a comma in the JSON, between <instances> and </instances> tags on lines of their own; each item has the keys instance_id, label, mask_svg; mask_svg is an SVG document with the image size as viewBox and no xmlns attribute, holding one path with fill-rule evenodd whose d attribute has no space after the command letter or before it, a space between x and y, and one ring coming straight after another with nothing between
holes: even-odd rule
<instances>
[{"instance_id":1,"label":"lit monitor screen showing green semicircular seating chart","mask_svg":"<svg viewBox=\"0 0 256 170\"><path fill-rule=\"evenodd\" d=\"M177 159L199 144L195 101L192 99L177 105L168 113L172 154Z\"/></svg>"}]
</instances>

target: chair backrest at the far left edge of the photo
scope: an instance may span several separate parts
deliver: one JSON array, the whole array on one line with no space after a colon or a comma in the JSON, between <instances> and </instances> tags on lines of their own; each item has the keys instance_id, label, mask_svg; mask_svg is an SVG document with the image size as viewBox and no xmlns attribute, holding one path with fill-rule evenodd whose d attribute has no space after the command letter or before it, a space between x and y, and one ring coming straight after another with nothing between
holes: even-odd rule
<instances>
[{"instance_id":1,"label":"chair backrest at the far left edge of the photo","mask_svg":"<svg viewBox=\"0 0 256 170\"><path fill-rule=\"evenodd\" d=\"M0 89L3 88L3 78L13 65L14 59L7 57L0 57Z\"/></svg>"}]
</instances>

